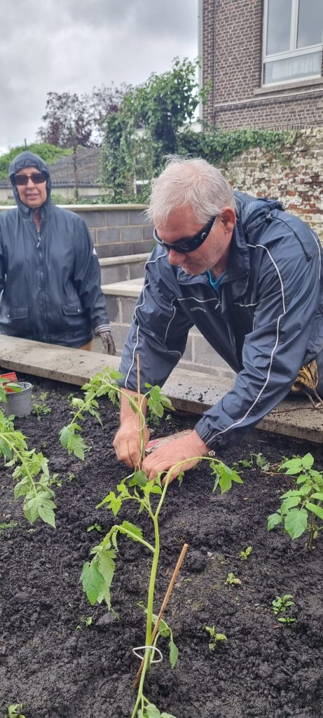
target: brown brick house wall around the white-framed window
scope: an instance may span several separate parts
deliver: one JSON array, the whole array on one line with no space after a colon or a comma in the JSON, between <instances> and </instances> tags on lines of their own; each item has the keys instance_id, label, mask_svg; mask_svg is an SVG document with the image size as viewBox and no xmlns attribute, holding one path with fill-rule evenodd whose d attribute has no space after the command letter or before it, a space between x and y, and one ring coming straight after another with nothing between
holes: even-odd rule
<instances>
[{"instance_id":1,"label":"brown brick house wall around the white-framed window","mask_svg":"<svg viewBox=\"0 0 323 718\"><path fill-rule=\"evenodd\" d=\"M262 0L203 0L203 118L219 129L321 126L323 79L261 87Z\"/></svg>"}]
</instances>

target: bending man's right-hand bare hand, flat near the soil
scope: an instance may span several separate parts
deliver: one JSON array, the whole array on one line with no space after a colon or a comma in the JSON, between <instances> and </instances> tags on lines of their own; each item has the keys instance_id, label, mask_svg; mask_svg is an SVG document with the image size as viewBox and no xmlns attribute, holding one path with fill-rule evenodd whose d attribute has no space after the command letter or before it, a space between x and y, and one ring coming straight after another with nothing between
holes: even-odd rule
<instances>
[{"instance_id":1,"label":"bending man's right-hand bare hand, flat near the soil","mask_svg":"<svg viewBox=\"0 0 323 718\"><path fill-rule=\"evenodd\" d=\"M142 470L146 472L149 480L155 479L160 472L167 472L172 466L181 461L187 460L182 466L177 467L172 472L171 481L173 481L180 471L188 471L198 463L196 457L205 456L208 449L207 445L200 439L195 429L190 434L180 439L174 439L159 449L146 456L142 462ZM191 461L189 461L191 459ZM165 482L165 479L162 483Z\"/></svg>"}]
</instances>

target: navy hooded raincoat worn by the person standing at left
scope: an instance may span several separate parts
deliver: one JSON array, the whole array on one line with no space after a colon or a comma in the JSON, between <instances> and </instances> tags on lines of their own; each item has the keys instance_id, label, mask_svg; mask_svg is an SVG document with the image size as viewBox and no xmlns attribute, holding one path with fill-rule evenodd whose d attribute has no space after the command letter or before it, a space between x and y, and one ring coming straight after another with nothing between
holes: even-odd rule
<instances>
[{"instance_id":1,"label":"navy hooded raincoat worn by the person standing at left","mask_svg":"<svg viewBox=\"0 0 323 718\"><path fill-rule=\"evenodd\" d=\"M19 199L14 174L47 172L47 200L39 234L33 210ZM9 168L17 208L0 213L0 333L70 347L87 344L109 327L100 265L85 222L52 205L45 162L24 151Z\"/></svg>"}]
</instances>

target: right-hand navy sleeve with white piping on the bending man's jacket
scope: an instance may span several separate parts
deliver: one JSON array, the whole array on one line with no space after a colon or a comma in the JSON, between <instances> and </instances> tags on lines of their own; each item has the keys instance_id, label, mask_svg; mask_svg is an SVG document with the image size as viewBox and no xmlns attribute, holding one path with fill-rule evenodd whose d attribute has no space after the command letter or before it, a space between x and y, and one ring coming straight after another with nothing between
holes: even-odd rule
<instances>
[{"instance_id":1,"label":"right-hand navy sleeve with white piping on the bending man's jacket","mask_svg":"<svg viewBox=\"0 0 323 718\"><path fill-rule=\"evenodd\" d=\"M311 230L304 226L308 240ZM320 291L320 249L312 234L311 256L295 248L290 233L258 252L253 331L245 336L243 370L227 394L203 414L195 429L211 449L237 444L286 398L304 364Z\"/></svg>"}]
</instances>

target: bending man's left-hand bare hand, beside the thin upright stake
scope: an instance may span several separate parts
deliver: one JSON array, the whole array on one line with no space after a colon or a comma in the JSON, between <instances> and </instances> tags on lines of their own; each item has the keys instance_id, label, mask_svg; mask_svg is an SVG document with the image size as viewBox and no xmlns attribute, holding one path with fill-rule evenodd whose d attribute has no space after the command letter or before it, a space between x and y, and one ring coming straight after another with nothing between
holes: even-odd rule
<instances>
[{"instance_id":1,"label":"bending man's left-hand bare hand, beside the thin upright stake","mask_svg":"<svg viewBox=\"0 0 323 718\"><path fill-rule=\"evenodd\" d=\"M139 416L132 412L131 416L127 416L121 425L119 426L118 432L114 437L113 447L116 451L116 455L120 461L124 461L125 464L130 468L134 469L135 466L139 465L140 455L140 432L139 432ZM144 447L149 440L149 431L146 427L144 428Z\"/></svg>"}]
</instances>

